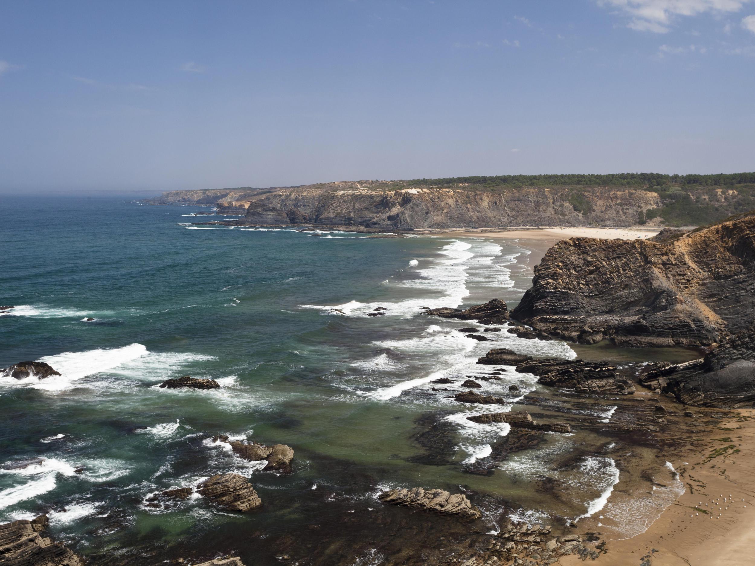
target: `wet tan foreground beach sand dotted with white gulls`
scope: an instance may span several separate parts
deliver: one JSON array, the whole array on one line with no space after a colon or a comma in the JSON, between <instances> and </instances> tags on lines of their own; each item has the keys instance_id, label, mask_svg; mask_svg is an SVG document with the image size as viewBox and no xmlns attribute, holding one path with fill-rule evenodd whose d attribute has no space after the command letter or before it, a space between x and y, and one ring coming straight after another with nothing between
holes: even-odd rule
<instances>
[{"instance_id":1,"label":"wet tan foreground beach sand dotted with white gulls","mask_svg":"<svg viewBox=\"0 0 755 566\"><path fill-rule=\"evenodd\" d=\"M685 493L643 534L610 541L597 564L636 566L647 555L652 566L755 563L755 411L720 414L723 419L699 439L699 446L670 459ZM582 563L574 555L558 562Z\"/></svg>"}]
</instances>

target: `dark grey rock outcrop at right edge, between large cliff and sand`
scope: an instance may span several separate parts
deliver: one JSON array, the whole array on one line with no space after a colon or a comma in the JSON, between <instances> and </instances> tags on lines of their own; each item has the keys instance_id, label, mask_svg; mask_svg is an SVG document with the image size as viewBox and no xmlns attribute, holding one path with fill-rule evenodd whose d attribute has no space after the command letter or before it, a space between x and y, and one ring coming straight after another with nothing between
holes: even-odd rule
<instances>
[{"instance_id":1,"label":"dark grey rock outcrop at right edge, between large cliff and sand","mask_svg":"<svg viewBox=\"0 0 755 566\"><path fill-rule=\"evenodd\" d=\"M639 383L698 407L755 406L755 327L724 340L704 358L651 366Z\"/></svg>"}]
</instances>

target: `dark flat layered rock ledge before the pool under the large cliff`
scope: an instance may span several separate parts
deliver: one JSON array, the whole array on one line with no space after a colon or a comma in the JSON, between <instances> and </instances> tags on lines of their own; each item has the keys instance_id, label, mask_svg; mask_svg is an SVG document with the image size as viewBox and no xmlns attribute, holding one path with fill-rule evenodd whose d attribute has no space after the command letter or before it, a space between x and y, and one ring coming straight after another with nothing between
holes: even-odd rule
<instances>
[{"instance_id":1,"label":"dark flat layered rock ledge before the pool under the large cliff","mask_svg":"<svg viewBox=\"0 0 755 566\"><path fill-rule=\"evenodd\" d=\"M546 358L524 361L516 366L520 373L539 376L538 383L567 387L581 393L618 393L631 395L634 386L618 376L615 365L602 361Z\"/></svg>"}]
</instances>

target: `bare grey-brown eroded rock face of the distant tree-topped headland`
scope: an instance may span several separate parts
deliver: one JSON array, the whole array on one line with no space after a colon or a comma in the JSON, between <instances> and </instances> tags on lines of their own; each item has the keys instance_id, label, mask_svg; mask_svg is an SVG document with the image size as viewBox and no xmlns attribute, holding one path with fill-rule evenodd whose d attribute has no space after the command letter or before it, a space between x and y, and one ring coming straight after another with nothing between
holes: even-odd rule
<instances>
[{"instance_id":1,"label":"bare grey-brown eroded rock face of the distant tree-topped headland","mask_svg":"<svg viewBox=\"0 0 755 566\"><path fill-rule=\"evenodd\" d=\"M465 189L384 191L359 183L276 189L248 202L245 223L321 224L380 229L488 228L499 226L632 226L639 211L660 204L654 192L582 189L572 204L568 188L501 192ZM577 209L581 209L578 211Z\"/></svg>"}]
</instances>

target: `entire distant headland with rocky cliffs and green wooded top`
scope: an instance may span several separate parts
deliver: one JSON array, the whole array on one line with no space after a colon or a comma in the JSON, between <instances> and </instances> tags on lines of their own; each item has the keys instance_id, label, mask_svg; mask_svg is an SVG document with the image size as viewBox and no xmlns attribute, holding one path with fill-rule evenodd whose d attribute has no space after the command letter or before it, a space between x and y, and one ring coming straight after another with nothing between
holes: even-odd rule
<instances>
[{"instance_id":1,"label":"entire distant headland with rocky cliffs and green wooded top","mask_svg":"<svg viewBox=\"0 0 755 566\"><path fill-rule=\"evenodd\" d=\"M221 214L244 214L238 223L257 225L387 230L696 226L755 208L755 183L742 183L750 176L533 175L341 181L267 189L172 191L150 202L216 205ZM611 184L587 184L599 182Z\"/></svg>"}]
</instances>

